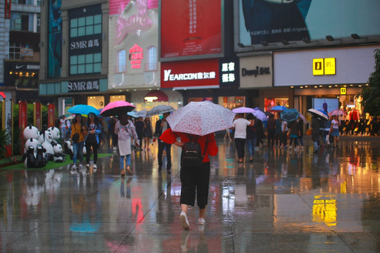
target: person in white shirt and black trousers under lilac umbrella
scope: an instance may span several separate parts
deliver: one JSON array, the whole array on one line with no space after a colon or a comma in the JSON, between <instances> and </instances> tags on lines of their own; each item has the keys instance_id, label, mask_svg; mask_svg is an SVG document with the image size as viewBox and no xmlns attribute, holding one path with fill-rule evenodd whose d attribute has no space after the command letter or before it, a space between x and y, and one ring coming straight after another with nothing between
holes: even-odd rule
<instances>
[{"instance_id":1,"label":"person in white shirt and black trousers under lilac umbrella","mask_svg":"<svg viewBox=\"0 0 380 253\"><path fill-rule=\"evenodd\" d=\"M253 125L253 121L244 119L243 113L238 113L234 123L232 123L232 130L235 130L234 141L236 146L236 151L238 153L239 163L244 162L245 157L245 146L247 138L247 126Z\"/></svg>"}]
</instances>

